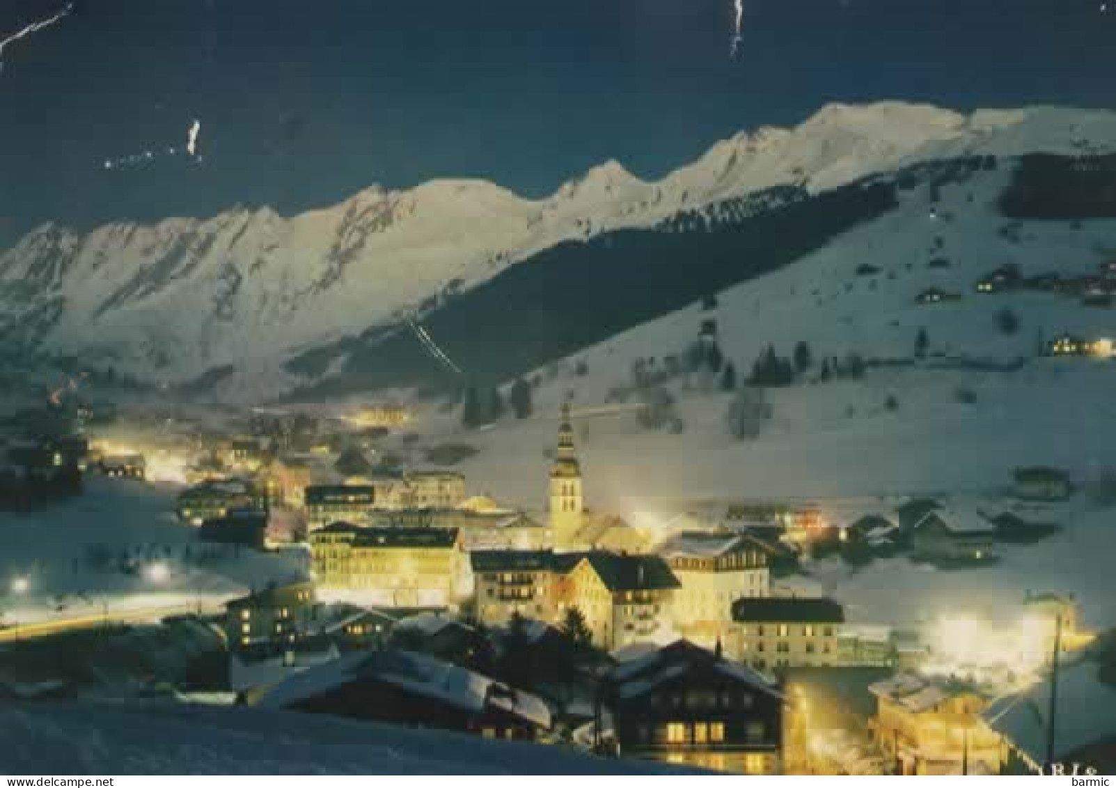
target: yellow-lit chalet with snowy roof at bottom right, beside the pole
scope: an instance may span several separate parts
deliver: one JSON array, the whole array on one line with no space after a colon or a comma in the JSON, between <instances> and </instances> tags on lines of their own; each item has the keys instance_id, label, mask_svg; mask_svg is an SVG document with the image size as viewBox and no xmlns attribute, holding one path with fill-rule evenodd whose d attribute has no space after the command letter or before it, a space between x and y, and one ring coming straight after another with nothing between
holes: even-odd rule
<instances>
[{"instance_id":1,"label":"yellow-lit chalet with snowy roof at bottom right, beside the pole","mask_svg":"<svg viewBox=\"0 0 1116 788\"><path fill-rule=\"evenodd\" d=\"M899 773L999 773L1000 737L981 719L988 700L977 691L911 673L869 689L877 702L872 731Z\"/></svg>"}]
</instances>

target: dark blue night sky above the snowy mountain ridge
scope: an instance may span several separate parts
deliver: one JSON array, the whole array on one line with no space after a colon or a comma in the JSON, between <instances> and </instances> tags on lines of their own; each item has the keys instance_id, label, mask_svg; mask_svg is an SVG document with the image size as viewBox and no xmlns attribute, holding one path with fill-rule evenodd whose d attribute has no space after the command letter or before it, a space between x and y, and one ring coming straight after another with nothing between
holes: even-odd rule
<instances>
[{"instance_id":1,"label":"dark blue night sky above the snowy mountain ridge","mask_svg":"<svg viewBox=\"0 0 1116 788\"><path fill-rule=\"evenodd\" d=\"M527 194L657 176L830 100L1116 105L1101 0L84 0L0 74L0 236L46 219L282 212L371 183ZM0 36L59 0L2 0ZM105 158L179 144L205 161Z\"/></svg>"}]
</instances>

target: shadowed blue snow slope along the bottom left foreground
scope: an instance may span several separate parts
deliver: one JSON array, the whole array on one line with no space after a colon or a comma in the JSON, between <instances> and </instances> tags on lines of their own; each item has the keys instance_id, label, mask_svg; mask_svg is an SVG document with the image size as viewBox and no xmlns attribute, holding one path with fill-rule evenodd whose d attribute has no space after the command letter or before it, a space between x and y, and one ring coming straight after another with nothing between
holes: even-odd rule
<instances>
[{"instance_id":1,"label":"shadowed blue snow slope along the bottom left foreground","mask_svg":"<svg viewBox=\"0 0 1116 788\"><path fill-rule=\"evenodd\" d=\"M559 747L248 708L6 707L4 775L667 775Z\"/></svg>"}]
</instances>

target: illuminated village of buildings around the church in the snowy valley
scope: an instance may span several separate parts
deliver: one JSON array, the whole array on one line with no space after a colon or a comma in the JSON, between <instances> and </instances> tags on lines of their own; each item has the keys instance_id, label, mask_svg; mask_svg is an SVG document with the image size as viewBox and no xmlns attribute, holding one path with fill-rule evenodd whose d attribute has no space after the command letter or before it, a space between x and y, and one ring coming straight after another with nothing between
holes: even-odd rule
<instances>
[{"instance_id":1,"label":"illuminated village of buildings around the church in the snowy valley","mask_svg":"<svg viewBox=\"0 0 1116 788\"><path fill-rule=\"evenodd\" d=\"M427 451L421 465L377 450L408 422L402 406L333 421L253 412L223 430L153 416L144 434L162 441L131 443L109 429L115 414L98 423L93 410L79 409L77 434L9 445L6 508L81 496L83 479L171 484L173 517L194 547L129 556L122 571L157 585L212 550L232 564L281 556L289 569L247 594L162 617L162 626L204 624L221 642L204 693L165 688L179 702L441 728L734 773L998 775L1109 763L1103 731L1113 707L1098 711L1097 698L1113 691L1116 646L1110 632L1090 631L1071 594L1020 588L1009 622L954 611L901 627L853 615L805 570L903 556L963 578L999 561L1003 545L1057 530L1019 511L1075 496L1059 469L1017 468L1006 484L1018 509L930 497L894 506L695 500L651 522L586 500L593 470L568 403L551 421L539 511L474 490L481 480L436 461L452 446ZM9 598L29 597L37 578L8 583ZM7 647L33 642L33 627L20 634L6 623ZM75 628L123 623L106 606ZM3 664L0 654L0 676ZM37 686L8 691L64 692ZM1056 737L1051 728L1060 728Z\"/></svg>"}]
</instances>

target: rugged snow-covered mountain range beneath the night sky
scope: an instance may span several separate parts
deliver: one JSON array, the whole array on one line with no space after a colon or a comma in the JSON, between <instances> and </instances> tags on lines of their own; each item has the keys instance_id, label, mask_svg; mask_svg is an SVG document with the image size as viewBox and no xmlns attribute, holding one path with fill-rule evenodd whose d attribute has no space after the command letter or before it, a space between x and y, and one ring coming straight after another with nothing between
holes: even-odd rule
<instances>
[{"instance_id":1,"label":"rugged snow-covered mountain range beneath the night sky","mask_svg":"<svg viewBox=\"0 0 1116 788\"><path fill-rule=\"evenodd\" d=\"M778 185L809 193L921 161L1113 150L1116 113L831 105L793 129L714 145L647 183L608 162L543 200L483 181L367 189L285 218L47 224L0 254L0 330L147 381L235 365L260 393L290 386L282 362L436 305L564 241L654 227Z\"/></svg>"}]
</instances>

